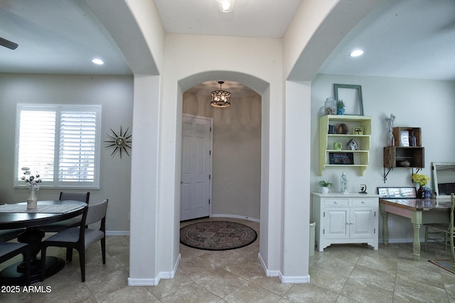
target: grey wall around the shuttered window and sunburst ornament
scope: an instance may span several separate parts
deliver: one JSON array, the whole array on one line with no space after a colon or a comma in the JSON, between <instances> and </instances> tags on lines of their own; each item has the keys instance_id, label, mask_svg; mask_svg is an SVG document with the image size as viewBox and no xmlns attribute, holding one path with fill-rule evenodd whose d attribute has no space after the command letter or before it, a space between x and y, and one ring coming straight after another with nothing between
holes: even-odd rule
<instances>
[{"instance_id":1,"label":"grey wall around the shuttered window and sunburst ornament","mask_svg":"<svg viewBox=\"0 0 455 303\"><path fill-rule=\"evenodd\" d=\"M105 141L109 128L132 131L132 95L133 79L128 76L0 74L0 203L25 201L29 194L28 189L13 188L16 104L101 104ZM109 199L107 231L127 233L131 159L123 154L120 160L111 153L102 143L100 189L90 189L90 202ZM60 191L41 187L38 200L58 199Z\"/></svg>"}]
</instances>

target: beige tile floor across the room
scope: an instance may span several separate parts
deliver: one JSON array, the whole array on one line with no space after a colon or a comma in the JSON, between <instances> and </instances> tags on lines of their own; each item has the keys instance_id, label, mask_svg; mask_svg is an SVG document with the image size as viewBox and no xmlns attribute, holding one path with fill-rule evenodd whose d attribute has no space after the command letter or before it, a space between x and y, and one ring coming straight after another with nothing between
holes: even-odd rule
<instances>
[{"instance_id":1,"label":"beige tile floor across the room","mask_svg":"<svg viewBox=\"0 0 455 303\"><path fill-rule=\"evenodd\" d=\"M247 224L259 233L259 224ZM190 224L184 223L184 224ZM183 224L182 224L183 226ZM64 257L50 248L49 255ZM429 259L448 258L431 246L412 260L412 244L333 245L309 260L309 284L282 284L259 265L259 241L237 250L208 251L181 246L176 277L155 287L128 287L129 237L107 237L107 263L100 247L87 253L86 282L80 282L77 254L57 275L38 282L48 293L0 293L0 302L454 302L455 275ZM0 265L0 269L8 263Z\"/></svg>"}]
</instances>

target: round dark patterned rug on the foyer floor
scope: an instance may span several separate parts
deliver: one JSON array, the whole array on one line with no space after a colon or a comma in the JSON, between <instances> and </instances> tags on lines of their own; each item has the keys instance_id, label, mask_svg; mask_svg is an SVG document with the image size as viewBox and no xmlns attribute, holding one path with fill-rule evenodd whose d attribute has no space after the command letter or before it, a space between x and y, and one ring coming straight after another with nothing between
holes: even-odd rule
<instances>
[{"instance_id":1,"label":"round dark patterned rug on the foyer floor","mask_svg":"<svg viewBox=\"0 0 455 303\"><path fill-rule=\"evenodd\" d=\"M206 221L180 228L180 243L204 250L241 248L255 242L257 233L249 226L229 221Z\"/></svg>"}]
</instances>

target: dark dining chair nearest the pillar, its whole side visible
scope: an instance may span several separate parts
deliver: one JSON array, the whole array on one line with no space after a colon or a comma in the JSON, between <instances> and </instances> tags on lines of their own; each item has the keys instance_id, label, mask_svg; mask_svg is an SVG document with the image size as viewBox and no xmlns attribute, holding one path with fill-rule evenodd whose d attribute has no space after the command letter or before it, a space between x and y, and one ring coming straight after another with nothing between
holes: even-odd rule
<instances>
[{"instance_id":1,"label":"dark dining chair nearest the pillar, its whole side visible","mask_svg":"<svg viewBox=\"0 0 455 303\"><path fill-rule=\"evenodd\" d=\"M85 282L85 250L97 241L101 241L102 263L106 264L106 211L108 199L98 204L85 206L79 227L66 228L55 233L41 243L41 281L44 280L45 252L49 246L66 248L66 260L73 259L73 248L79 253L80 275ZM100 228L85 226L100 222Z\"/></svg>"}]
</instances>

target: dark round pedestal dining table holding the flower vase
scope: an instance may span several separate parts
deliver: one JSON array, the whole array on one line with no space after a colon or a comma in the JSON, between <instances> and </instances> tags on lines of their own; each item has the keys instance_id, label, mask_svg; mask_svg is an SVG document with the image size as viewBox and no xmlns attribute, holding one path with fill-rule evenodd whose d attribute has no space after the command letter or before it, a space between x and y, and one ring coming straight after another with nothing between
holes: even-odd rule
<instances>
[{"instance_id":1,"label":"dark round pedestal dining table holding the flower vase","mask_svg":"<svg viewBox=\"0 0 455 303\"><path fill-rule=\"evenodd\" d=\"M37 257L45 232L40 226L80 216L87 203L73 200L38 201L36 209L27 209L27 202L0 205L0 229L25 228L18 235L18 242L28 243L31 250L31 282L41 277L41 260ZM55 275L65 260L47 256L45 278ZM23 285L25 283L24 261L9 265L0 272L0 285Z\"/></svg>"}]
</instances>

